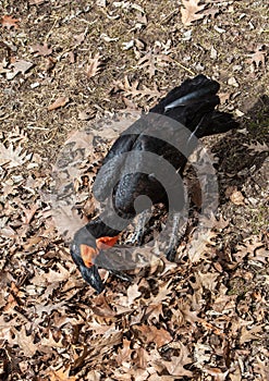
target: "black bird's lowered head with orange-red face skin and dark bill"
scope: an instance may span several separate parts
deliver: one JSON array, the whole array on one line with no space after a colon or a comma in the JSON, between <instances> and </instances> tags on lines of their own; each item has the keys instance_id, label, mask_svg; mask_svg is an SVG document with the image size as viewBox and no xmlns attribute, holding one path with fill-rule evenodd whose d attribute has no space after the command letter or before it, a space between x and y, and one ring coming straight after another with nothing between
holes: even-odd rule
<instances>
[{"instance_id":1,"label":"black bird's lowered head with orange-red face skin and dark bill","mask_svg":"<svg viewBox=\"0 0 269 381\"><path fill-rule=\"evenodd\" d=\"M102 249L113 246L118 239L117 236L101 236L96 238L87 224L80 229L70 247L71 256L78 267L83 279L94 287L97 293L101 293L105 285L101 281L95 259Z\"/></svg>"}]
</instances>

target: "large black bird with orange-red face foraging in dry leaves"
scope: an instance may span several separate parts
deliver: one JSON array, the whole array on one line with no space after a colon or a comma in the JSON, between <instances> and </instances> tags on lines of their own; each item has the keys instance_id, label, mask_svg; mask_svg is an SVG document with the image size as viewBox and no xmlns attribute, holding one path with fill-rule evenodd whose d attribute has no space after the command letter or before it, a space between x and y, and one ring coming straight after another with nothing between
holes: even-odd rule
<instances>
[{"instance_id":1,"label":"large black bird with orange-red face foraging in dry leaves","mask_svg":"<svg viewBox=\"0 0 269 381\"><path fill-rule=\"evenodd\" d=\"M159 172L162 171L161 175L166 176L163 172L167 169L162 170L164 161L171 164L174 171L182 173L187 157L195 148L195 137L224 133L237 127L237 122L231 114L215 110L220 102L217 96L219 87L216 81L201 74L184 81L181 86L175 87L161 99L148 114L142 115L121 134L105 158L93 190L100 201L107 200L112 195L110 199L112 208L108 208L109 211L106 214L99 216L80 229L71 244L73 260L84 280L98 293L105 285L95 265L95 258L100 250L115 244L119 234L127 226L130 220L137 213L145 214L148 204L140 202L138 210L135 209L137 197L147 196L152 205L163 202L168 207L169 189L178 186L176 189L181 192L179 184L173 183L173 179L171 184L168 179L167 185L163 186L155 171L152 173L144 171L142 167L145 163L140 165L143 160L140 153L156 155L155 164ZM178 197L178 204L172 206L175 218L167 249L169 260L174 259L178 243L179 214L183 204L181 198ZM121 218L119 224L115 223L111 210ZM110 214L113 216L110 217ZM143 230L143 223L145 221L142 218L142 226L137 230L138 236Z\"/></svg>"}]
</instances>

